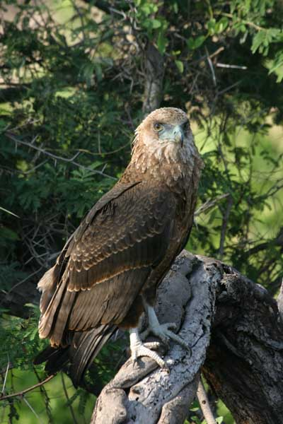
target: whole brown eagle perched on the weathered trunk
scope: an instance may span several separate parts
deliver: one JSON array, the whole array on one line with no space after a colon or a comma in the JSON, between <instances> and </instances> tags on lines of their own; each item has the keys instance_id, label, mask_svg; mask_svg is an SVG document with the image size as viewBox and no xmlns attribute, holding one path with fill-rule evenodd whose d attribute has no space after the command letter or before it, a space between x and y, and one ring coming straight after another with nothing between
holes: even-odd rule
<instances>
[{"instance_id":1,"label":"whole brown eagle perched on the weathered trunk","mask_svg":"<svg viewBox=\"0 0 283 424\"><path fill-rule=\"evenodd\" d=\"M89 211L38 288L39 334L51 346L35 363L57 372L69 363L75 386L117 327L129 329L132 359L154 358L142 343L139 318L149 331L184 341L158 323L156 288L192 228L202 160L187 115L174 107L151 112L135 131L132 159L115 186Z\"/></svg>"}]
</instances>

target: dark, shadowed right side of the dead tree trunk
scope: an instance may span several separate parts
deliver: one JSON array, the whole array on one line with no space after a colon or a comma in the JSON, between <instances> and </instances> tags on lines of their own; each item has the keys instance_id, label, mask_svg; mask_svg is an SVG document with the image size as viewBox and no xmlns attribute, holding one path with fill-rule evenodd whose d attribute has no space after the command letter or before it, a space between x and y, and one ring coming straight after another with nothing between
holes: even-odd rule
<instances>
[{"instance_id":1,"label":"dark, shadowed right side of the dead tree trunk","mask_svg":"<svg viewBox=\"0 0 283 424\"><path fill-rule=\"evenodd\" d=\"M225 274L225 272L227 272ZM283 330L267 290L224 268L203 371L237 424L283 423Z\"/></svg>"}]
</instances>

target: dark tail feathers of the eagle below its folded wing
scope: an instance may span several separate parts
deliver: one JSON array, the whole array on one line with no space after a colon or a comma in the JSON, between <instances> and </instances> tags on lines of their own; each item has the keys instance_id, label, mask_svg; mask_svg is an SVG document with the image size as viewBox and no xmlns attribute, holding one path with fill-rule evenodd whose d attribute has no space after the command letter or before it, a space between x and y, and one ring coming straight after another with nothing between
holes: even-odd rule
<instances>
[{"instance_id":1,"label":"dark tail feathers of the eagle below its folded wing","mask_svg":"<svg viewBox=\"0 0 283 424\"><path fill-rule=\"evenodd\" d=\"M37 355L34 364L46 362L45 370L49 375L67 369L74 387L78 387L93 359L116 328L115 325L105 324L89 331L75 332L70 346L66 348L48 346Z\"/></svg>"}]
</instances>

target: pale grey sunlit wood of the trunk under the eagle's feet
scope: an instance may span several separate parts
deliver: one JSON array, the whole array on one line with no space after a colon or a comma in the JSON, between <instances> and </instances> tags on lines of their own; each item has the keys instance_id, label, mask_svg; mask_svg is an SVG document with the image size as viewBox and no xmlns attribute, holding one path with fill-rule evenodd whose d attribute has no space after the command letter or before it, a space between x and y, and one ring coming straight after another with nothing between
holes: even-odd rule
<instances>
[{"instance_id":1,"label":"pale grey sunlit wood of the trunk under the eagle's feet","mask_svg":"<svg viewBox=\"0 0 283 424\"><path fill-rule=\"evenodd\" d=\"M219 278L217 269L214 275L205 273L202 262L188 252L176 259L158 288L156 313L161 323L181 326L179 335L192 346L192 355L173 344L165 357L170 374L149 358L139 360L135 369L128 360L100 394L91 423L174 423L177 416L178 423L185 420L209 345ZM108 415L109 405L117 411L115 418Z\"/></svg>"}]
</instances>

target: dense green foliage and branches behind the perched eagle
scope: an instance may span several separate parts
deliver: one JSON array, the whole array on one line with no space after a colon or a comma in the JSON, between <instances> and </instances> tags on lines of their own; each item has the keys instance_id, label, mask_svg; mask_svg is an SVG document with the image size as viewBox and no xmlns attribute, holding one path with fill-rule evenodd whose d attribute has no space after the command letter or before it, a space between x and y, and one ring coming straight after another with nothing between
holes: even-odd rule
<instances>
[{"instance_id":1,"label":"dense green foliage and branches behind the perched eagle","mask_svg":"<svg viewBox=\"0 0 283 424\"><path fill-rule=\"evenodd\" d=\"M4 0L0 16L5 393L45 378L32 364L45 344L35 284L127 165L134 128L150 109L151 53L156 104L187 110L205 163L187 249L233 264L275 294L283 276L282 3ZM106 348L97 361L97 389L121 356L109 348L115 354ZM38 390L2 401L0 421L87 422L93 395L85 389L66 389L57 376ZM69 411L59 409L66 403Z\"/></svg>"}]
</instances>

